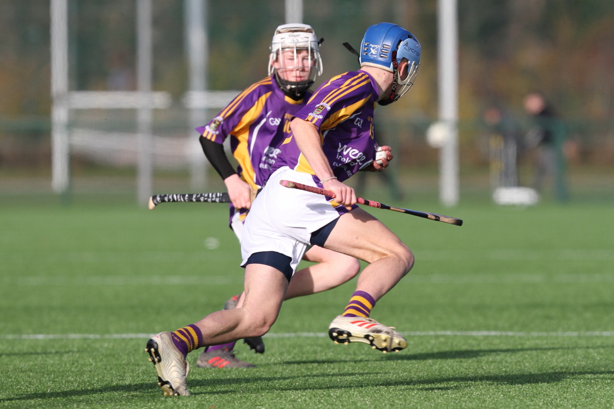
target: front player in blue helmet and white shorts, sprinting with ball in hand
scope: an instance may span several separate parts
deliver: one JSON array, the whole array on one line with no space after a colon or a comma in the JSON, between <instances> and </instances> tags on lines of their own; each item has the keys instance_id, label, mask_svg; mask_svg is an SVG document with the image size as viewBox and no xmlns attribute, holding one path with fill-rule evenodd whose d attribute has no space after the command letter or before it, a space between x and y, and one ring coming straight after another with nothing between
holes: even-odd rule
<instances>
[{"instance_id":1,"label":"front player in blue helmet and white shorts, sprinting with ball in hand","mask_svg":"<svg viewBox=\"0 0 614 409\"><path fill-rule=\"evenodd\" d=\"M383 170L376 156L375 104L396 101L413 84L420 44L391 23L370 26L359 48L361 69L325 82L291 122L273 173L256 197L241 235L245 267L243 307L217 311L195 324L161 332L147 342L158 385L187 394L185 355L201 346L258 337L273 325L303 254L314 245L369 263L342 315L333 319L335 343L362 342L400 351L407 342L394 327L369 318L371 308L411 269L410 249L384 224L356 206L354 190L341 181L359 170ZM324 186L333 198L287 189L281 180Z\"/></svg>"}]
</instances>

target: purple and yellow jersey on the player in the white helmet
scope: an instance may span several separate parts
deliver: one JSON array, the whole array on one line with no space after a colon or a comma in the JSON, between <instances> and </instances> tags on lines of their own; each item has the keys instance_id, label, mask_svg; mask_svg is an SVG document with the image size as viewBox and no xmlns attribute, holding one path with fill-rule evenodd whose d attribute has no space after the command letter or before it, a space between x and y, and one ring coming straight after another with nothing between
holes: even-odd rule
<instances>
[{"instance_id":1,"label":"purple and yellow jersey on the player in the white helmet","mask_svg":"<svg viewBox=\"0 0 614 409\"><path fill-rule=\"evenodd\" d=\"M311 96L308 92L306 97ZM290 120L307 98L293 101L266 77L249 86L211 122L196 128L204 138L223 143L230 139L237 173L254 189L262 187L279 155L279 145L290 132Z\"/></svg>"}]
</instances>

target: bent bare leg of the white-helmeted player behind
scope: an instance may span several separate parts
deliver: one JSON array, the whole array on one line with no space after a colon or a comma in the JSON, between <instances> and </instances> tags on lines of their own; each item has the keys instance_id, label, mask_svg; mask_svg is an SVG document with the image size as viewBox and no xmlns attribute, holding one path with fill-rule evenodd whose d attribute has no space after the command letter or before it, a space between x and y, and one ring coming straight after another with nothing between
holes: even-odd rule
<instances>
[{"instance_id":1,"label":"bent bare leg of the white-helmeted player behind","mask_svg":"<svg viewBox=\"0 0 614 409\"><path fill-rule=\"evenodd\" d=\"M356 277L360 270L360 262L356 258L318 246L310 248L303 256L303 260L319 264L294 273L284 300L335 288ZM243 294L239 297L236 307L242 306Z\"/></svg>"}]
</instances>

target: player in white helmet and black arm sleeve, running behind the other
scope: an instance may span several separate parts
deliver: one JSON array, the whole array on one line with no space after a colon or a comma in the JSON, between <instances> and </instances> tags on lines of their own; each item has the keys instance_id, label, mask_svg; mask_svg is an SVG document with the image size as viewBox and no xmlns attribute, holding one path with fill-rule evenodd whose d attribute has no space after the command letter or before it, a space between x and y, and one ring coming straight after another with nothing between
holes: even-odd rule
<instances>
[{"instance_id":1,"label":"player in white helmet and black arm sleeve, running behind the other","mask_svg":"<svg viewBox=\"0 0 614 409\"><path fill-rule=\"evenodd\" d=\"M319 44L313 28L304 24L279 26L271 42L269 76L249 86L206 126L197 128L209 162L228 189L230 226L241 240L243 221L251 206L250 193L262 188L271 165L278 159L279 146L289 136L290 120L305 107L313 92L309 87L322 71ZM230 148L238 169L233 169L222 143L230 137ZM351 280L359 261L345 254L314 246L304 259L317 262L298 271L286 299L325 291ZM225 309L241 307L243 298L233 296ZM258 353L265 350L262 338L244 340ZM253 367L232 353L235 342L206 348L196 365L205 368Z\"/></svg>"}]
</instances>

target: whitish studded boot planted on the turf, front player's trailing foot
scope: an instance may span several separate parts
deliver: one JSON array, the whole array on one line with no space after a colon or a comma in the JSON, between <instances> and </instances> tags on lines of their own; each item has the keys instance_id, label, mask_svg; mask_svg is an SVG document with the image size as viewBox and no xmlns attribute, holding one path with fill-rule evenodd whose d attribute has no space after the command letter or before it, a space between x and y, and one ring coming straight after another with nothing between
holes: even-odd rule
<instances>
[{"instance_id":1,"label":"whitish studded boot planted on the turf, front player's trailing foot","mask_svg":"<svg viewBox=\"0 0 614 409\"><path fill-rule=\"evenodd\" d=\"M149 361L153 362L158 372L158 386L165 396L187 396L190 394L185 386L185 378L190 371L190 364L184 354L177 350L170 332L160 332L147 341L145 351Z\"/></svg>"}]
</instances>

